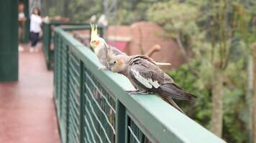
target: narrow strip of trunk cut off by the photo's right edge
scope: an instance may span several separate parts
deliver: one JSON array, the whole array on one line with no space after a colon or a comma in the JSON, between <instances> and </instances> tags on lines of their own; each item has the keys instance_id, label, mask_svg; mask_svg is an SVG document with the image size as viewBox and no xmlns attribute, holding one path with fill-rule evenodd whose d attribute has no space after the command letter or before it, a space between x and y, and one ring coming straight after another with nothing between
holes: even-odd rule
<instances>
[{"instance_id":1,"label":"narrow strip of trunk cut off by the photo's right edge","mask_svg":"<svg viewBox=\"0 0 256 143\"><path fill-rule=\"evenodd\" d=\"M256 43L253 44L253 59L256 61ZM256 143L256 66L254 65L254 92L253 92L253 142Z\"/></svg>"}]
</instances>

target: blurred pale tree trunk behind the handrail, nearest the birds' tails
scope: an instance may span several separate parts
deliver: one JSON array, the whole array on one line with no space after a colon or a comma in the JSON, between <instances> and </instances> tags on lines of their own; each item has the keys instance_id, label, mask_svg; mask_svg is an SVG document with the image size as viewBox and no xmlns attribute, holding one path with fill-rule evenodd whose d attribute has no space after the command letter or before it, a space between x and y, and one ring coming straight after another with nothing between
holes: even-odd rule
<instances>
[{"instance_id":1,"label":"blurred pale tree trunk behind the handrail, nearest the birds' tails","mask_svg":"<svg viewBox=\"0 0 256 143\"><path fill-rule=\"evenodd\" d=\"M216 136L222 135L223 121L223 73L217 67L214 70L212 79L212 112L211 112L211 132Z\"/></svg>"}]
</instances>

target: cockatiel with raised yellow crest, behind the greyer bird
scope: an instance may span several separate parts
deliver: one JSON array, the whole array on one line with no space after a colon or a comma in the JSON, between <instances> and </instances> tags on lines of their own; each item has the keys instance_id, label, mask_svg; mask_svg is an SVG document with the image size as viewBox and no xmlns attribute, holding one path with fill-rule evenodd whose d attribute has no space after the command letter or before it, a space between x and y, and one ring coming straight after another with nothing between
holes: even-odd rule
<instances>
[{"instance_id":1,"label":"cockatiel with raised yellow crest, behind the greyer bird","mask_svg":"<svg viewBox=\"0 0 256 143\"><path fill-rule=\"evenodd\" d=\"M98 34L98 30L97 30L97 25L94 26L93 24L91 24L91 41L90 41L90 45L93 48L94 53L96 54L96 56L99 58L99 61L101 62L101 64L103 64L105 67L101 68L101 69L109 69L108 66L108 62L109 59L106 59L106 52L108 52L109 55L118 55L118 54L124 54L124 52L120 51L119 49L117 49L114 46L109 46L108 44L106 44L106 41L101 38ZM107 51L106 51L107 48Z\"/></svg>"}]
</instances>

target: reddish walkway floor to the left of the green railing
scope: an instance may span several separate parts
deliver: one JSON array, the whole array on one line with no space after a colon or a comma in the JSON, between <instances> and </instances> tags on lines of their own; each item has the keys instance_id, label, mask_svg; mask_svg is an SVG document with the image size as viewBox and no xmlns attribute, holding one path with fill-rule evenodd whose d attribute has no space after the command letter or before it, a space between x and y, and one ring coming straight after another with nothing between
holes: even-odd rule
<instances>
[{"instance_id":1,"label":"reddish walkway floor to the left of the green railing","mask_svg":"<svg viewBox=\"0 0 256 143\"><path fill-rule=\"evenodd\" d=\"M19 52L19 82L0 83L0 142L60 142L52 80L42 49Z\"/></svg>"}]
</instances>

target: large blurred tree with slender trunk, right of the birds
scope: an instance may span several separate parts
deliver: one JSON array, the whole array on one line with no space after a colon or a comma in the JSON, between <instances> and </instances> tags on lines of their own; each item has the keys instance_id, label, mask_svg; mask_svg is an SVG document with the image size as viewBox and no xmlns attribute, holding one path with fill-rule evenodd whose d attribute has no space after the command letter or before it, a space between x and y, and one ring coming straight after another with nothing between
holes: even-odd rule
<instances>
[{"instance_id":1,"label":"large blurred tree with slender trunk, right of the birds","mask_svg":"<svg viewBox=\"0 0 256 143\"><path fill-rule=\"evenodd\" d=\"M224 138L232 142L248 141L248 132L240 132L244 130L243 124L248 121L245 115L248 110L244 112L246 104L244 105L245 99L242 97L246 85L244 63L247 62L247 45L255 41L255 34L246 25L250 23L246 17L252 16L252 12L243 11L247 9L245 3L239 0L168 1L154 4L147 12L150 21L163 26L168 31L168 36L177 41L180 51L188 61L185 69L181 67L177 72L172 71L169 74L177 77L176 74L184 73L186 69L193 73L193 78L178 78L189 83L191 88L188 90L194 89L191 92L198 93L199 98L194 104L196 119L204 119L200 122L206 123L206 127L210 127L219 137L224 130ZM247 6L252 5L250 3ZM208 94L211 100L209 96L201 96L202 93ZM211 101L211 105L197 107L200 104L198 102L202 101L201 98L206 99L205 104ZM229 107L232 106L234 109L231 111ZM211 112L203 112L207 109L204 107L211 107ZM207 116L211 114L211 117L200 118L202 113L207 113ZM206 119L211 119L210 126Z\"/></svg>"}]
</instances>

